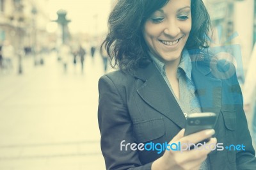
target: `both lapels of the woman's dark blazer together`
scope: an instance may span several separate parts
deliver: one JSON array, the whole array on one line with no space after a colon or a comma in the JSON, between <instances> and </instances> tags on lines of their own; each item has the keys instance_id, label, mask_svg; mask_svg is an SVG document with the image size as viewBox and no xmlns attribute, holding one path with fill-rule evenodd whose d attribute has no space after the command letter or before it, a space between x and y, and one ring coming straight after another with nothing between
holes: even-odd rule
<instances>
[{"instance_id":1,"label":"both lapels of the woman's dark blazer together","mask_svg":"<svg viewBox=\"0 0 256 170\"><path fill-rule=\"evenodd\" d=\"M203 61L192 62L192 78L202 112L214 112L218 118L221 111L221 80L216 79L209 66ZM146 68L136 70L135 77L145 81L137 89L140 97L151 107L156 109L180 128L186 125L186 118L161 73L153 63Z\"/></svg>"}]
</instances>

